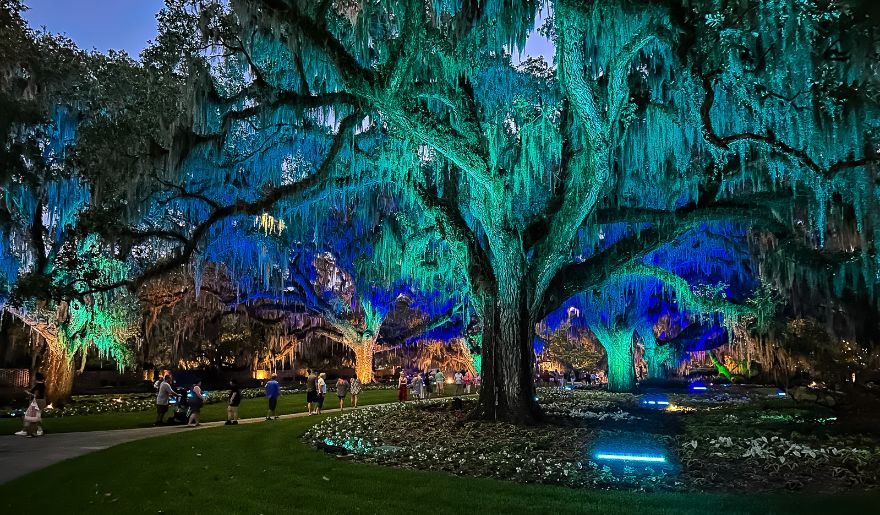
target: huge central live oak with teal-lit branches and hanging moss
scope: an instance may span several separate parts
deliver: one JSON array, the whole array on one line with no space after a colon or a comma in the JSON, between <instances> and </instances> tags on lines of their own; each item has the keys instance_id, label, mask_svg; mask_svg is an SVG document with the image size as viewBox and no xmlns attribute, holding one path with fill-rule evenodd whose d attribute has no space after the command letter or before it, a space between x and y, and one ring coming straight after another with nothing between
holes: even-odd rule
<instances>
[{"instance_id":1,"label":"huge central live oak with teal-lit branches and hanging moss","mask_svg":"<svg viewBox=\"0 0 880 515\"><path fill-rule=\"evenodd\" d=\"M169 19L200 29L176 39L193 49L192 117L133 183L154 200L129 206L136 231L116 231L140 245L124 245L140 273L98 289L136 288L267 211L308 224L304 205L393 187L466 274L475 415L521 423L539 415L536 324L612 280L676 283L646 256L708 222L760 234L785 263L776 278L819 281L829 270L797 258L854 220L856 259L835 271L874 291L871 18L830 0L551 6L555 68L511 60L536 2L173 3Z\"/></svg>"}]
</instances>

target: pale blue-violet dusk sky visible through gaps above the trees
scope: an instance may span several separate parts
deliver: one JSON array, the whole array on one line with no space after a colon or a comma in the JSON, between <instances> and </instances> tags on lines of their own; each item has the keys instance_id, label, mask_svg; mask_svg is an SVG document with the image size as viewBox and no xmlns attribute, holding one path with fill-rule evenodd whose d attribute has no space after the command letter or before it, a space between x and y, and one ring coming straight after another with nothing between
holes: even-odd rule
<instances>
[{"instance_id":1,"label":"pale blue-violet dusk sky visible through gaps above the trees","mask_svg":"<svg viewBox=\"0 0 880 515\"><path fill-rule=\"evenodd\" d=\"M147 42L156 37L156 13L162 0L25 0L30 8L25 18L31 27L46 27L64 33L81 48L107 52L125 50L137 57ZM543 19L546 13L539 16ZM526 43L523 59L543 55L553 62L553 47L534 32Z\"/></svg>"}]
</instances>

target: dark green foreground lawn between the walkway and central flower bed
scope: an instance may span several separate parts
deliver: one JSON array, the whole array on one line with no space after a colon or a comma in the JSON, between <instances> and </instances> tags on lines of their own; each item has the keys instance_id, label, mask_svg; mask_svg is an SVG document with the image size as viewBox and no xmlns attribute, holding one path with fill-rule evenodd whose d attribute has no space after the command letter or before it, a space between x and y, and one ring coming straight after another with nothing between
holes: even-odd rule
<instances>
[{"instance_id":1,"label":"dark green foreground lawn between the walkway and central flower bed","mask_svg":"<svg viewBox=\"0 0 880 515\"><path fill-rule=\"evenodd\" d=\"M334 416L334 415L330 415ZM131 442L0 485L2 513L868 513L880 496L573 490L339 460L316 417Z\"/></svg>"}]
</instances>

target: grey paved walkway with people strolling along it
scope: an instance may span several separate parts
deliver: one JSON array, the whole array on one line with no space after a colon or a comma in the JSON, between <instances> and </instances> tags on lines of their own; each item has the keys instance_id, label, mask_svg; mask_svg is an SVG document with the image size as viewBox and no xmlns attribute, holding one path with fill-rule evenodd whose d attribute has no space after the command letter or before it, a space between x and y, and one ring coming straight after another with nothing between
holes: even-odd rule
<instances>
[{"instance_id":1,"label":"grey paved walkway with people strolling along it","mask_svg":"<svg viewBox=\"0 0 880 515\"><path fill-rule=\"evenodd\" d=\"M360 409L369 405L359 406ZM373 406L376 406L375 404ZM339 409L325 409L324 413L335 413ZM308 413L281 415L282 420L306 417ZM264 422L265 417L239 420L239 424ZM49 433L39 438L23 436L0 436L0 484L54 465L59 461L76 458L83 454L99 451L121 443L143 440L181 431L197 431L208 427L222 426L223 422L206 422L199 427L161 426L139 429L116 429L113 431L87 431L80 433Z\"/></svg>"}]
</instances>

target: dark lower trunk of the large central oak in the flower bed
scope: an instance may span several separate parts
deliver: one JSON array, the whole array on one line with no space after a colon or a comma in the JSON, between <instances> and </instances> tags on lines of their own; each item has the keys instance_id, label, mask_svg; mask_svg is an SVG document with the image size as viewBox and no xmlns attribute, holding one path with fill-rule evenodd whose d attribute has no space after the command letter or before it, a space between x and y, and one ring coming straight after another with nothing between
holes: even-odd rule
<instances>
[{"instance_id":1,"label":"dark lower trunk of the large central oak in the flower bed","mask_svg":"<svg viewBox=\"0 0 880 515\"><path fill-rule=\"evenodd\" d=\"M520 291L501 291L483 303L483 387L475 416L484 420L533 424L540 418L532 347L535 322Z\"/></svg>"}]
</instances>

